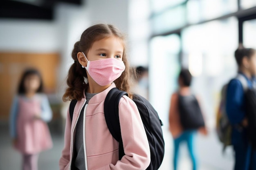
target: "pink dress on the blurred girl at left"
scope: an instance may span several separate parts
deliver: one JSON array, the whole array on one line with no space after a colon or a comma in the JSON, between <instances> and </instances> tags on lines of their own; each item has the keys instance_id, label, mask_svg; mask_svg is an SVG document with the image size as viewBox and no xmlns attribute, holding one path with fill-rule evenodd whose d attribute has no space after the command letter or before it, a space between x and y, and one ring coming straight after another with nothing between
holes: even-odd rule
<instances>
[{"instance_id":1,"label":"pink dress on the blurred girl at left","mask_svg":"<svg viewBox=\"0 0 256 170\"><path fill-rule=\"evenodd\" d=\"M36 154L52 148L52 138L45 121L35 119L41 113L40 97L18 98L16 149L25 154Z\"/></svg>"}]
</instances>

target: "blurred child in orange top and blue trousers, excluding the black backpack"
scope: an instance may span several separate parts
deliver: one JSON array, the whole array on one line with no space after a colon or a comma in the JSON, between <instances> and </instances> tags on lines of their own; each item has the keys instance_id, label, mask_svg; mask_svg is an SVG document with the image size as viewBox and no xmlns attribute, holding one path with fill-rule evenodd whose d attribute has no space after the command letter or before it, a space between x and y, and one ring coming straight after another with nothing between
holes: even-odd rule
<instances>
[{"instance_id":1,"label":"blurred child in orange top and blue trousers, excluding the black backpack","mask_svg":"<svg viewBox=\"0 0 256 170\"><path fill-rule=\"evenodd\" d=\"M174 93L171 97L171 105L169 110L169 128L173 136L174 143L174 157L173 166L174 170L177 170L178 153L180 150L180 143L186 142L191 157L193 170L197 169L196 157L194 153L194 135L196 129L183 130L183 126L180 119L179 95L183 97L191 97L191 80L192 76L188 69L182 69L178 78L179 91ZM202 127L199 129L204 135L207 135L207 129Z\"/></svg>"}]
</instances>

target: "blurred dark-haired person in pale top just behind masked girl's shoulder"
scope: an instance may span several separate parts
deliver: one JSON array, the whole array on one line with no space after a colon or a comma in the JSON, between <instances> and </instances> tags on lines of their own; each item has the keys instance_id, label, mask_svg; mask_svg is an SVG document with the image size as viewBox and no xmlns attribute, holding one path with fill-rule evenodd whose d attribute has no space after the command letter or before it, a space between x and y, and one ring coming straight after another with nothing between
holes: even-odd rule
<instances>
[{"instance_id":1,"label":"blurred dark-haired person in pale top just behind masked girl's shoulder","mask_svg":"<svg viewBox=\"0 0 256 170\"><path fill-rule=\"evenodd\" d=\"M135 85L132 87L132 92L141 95L148 99L148 68L137 66L135 75Z\"/></svg>"}]
</instances>

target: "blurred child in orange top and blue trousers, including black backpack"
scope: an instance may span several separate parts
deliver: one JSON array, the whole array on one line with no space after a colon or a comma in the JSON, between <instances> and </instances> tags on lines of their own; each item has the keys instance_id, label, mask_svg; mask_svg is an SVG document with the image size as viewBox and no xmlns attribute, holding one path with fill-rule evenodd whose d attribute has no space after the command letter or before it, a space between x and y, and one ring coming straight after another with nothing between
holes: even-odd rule
<instances>
[{"instance_id":1,"label":"blurred child in orange top and blue trousers, including black backpack","mask_svg":"<svg viewBox=\"0 0 256 170\"><path fill-rule=\"evenodd\" d=\"M169 130L174 140L173 166L177 170L180 144L187 144L193 170L197 170L194 151L194 136L197 130L207 135L204 118L197 97L191 92L192 76L188 69L182 69L178 77L179 89L171 96Z\"/></svg>"}]
</instances>

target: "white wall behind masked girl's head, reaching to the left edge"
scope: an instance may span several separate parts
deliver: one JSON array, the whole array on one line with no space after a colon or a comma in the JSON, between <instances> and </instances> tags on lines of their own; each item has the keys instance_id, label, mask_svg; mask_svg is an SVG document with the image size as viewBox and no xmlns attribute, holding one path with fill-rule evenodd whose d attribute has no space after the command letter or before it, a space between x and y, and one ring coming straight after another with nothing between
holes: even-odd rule
<instances>
[{"instance_id":1,"label":"white wall behind masked girl's head, reaching to the left edge","mask_svg":"<svg viewBox=\"0 0 256 170\"><path fill-rule=\"evenodd\" d=\"M128 0L85 0L81 6L58 4L53 21L0 19L0 51L61 54L58 97L73 63L71 52L81 33L92 24L109 23L128 32Z\"/></svg>"}]
</instances>

